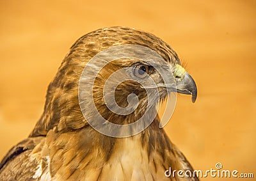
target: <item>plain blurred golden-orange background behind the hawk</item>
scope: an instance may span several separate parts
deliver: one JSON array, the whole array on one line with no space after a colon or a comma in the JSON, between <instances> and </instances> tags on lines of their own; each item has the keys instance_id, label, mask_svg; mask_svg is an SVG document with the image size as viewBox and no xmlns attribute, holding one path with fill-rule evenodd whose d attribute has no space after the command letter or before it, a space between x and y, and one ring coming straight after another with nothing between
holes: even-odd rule
<instances>
[{"instance_id":1,"label":"plain blurred golden-orange background behind the hawk","mask_svg":"<svg viewBox=\"0 0 256 181\"><path fill-rule=\"evenodd\" d=\"M33 129L72 43L127 26L169 43L196 81L195 104L179 95L164 128L193 167L221 162L256 177L255 10L256 1L231 0L1 1L0 159Z\"/></svg>"}]
</instances>

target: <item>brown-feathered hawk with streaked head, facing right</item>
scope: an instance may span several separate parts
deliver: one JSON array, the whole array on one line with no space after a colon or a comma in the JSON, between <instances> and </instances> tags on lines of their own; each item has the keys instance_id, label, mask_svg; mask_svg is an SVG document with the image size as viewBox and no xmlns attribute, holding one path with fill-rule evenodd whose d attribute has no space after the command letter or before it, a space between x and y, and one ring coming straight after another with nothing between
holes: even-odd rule
<instances>
[{"instance_id":1,"label":"brown-feathered hawk with streaked head, facing right","mask_svg":"<svg viewBox=\"0 0 256 181\"><path fill-rule=\"evenodd\" d=\"M127 57L111 61L100 69L93 83L93 101L108 122L121 125L136 122L147 106L154 107L150 111L156 111L157 102L170 94L166 91L168 85L163 84L152 63L165 67L164 74L173 76L170 77L176 84L173 91L191 94L195 102L195 81L182 67L176 52L163 40L133 28L112 27L93 31L79 38L65 56L49 84L40 120L28 138L13 146L1 161L0 180L198 180L197 177L179 177L177 174L166 177L169 168L183 172L192 172L193 168L164 130L159 128L159 116L147 113L142 121L152 119L152 123L138 134L124 138L102 134L86 120L91 110L90 107L83 110L80 106L81 74L90 59L118 45L147 47L164 61ZM91 63L89 70L97 67L97 62L100 63ZM129 75L141 80L154 80L159 100L145 101L147 88L127 80L115 89L116 103L126 107L127 96L134 93L138 106L129 114L113 113L104 102L103 89L106 79L120 68L131 68L133 71ZM85 74L85 79L90 76L92 74ZM86 87L84 89L86 93Z\"/></svg>"}]
</instances>

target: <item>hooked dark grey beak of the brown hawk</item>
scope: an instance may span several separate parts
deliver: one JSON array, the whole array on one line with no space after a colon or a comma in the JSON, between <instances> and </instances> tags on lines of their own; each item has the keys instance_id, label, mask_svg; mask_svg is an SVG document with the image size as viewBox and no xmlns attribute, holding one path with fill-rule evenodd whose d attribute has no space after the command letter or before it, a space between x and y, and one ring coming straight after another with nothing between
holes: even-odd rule
<instances>
[{"instance_id":1,"label":"hooked dark grey beak of the brown hawk","mask_svg":"<svg viewBox=\"0 0 256 181\"><path fill-rule=\"evenodd\" d=\"M192 102L196 101L197 89L196 83L193 78L186 72L181 81L177 81L176 83L176 91L178 93L189 94L192 95Z\"/></svg>"}]
</instances>

